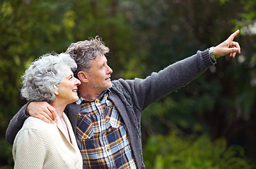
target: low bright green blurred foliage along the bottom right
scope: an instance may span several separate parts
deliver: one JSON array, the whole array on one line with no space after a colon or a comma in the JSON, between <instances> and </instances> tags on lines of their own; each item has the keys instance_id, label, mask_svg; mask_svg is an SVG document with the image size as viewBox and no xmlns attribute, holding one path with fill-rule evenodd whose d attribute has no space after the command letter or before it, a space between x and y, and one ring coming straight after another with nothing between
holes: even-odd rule
<instances>
[{"instance_id":1,"label":"low bright green blurred foliage along the bottom right","mask_svg":"<svg viewBox=\"0 0 256 169\"><path fill-rule=\"evenodd\" d=\"M211 142L206 134L201 136L152 135L144 146L146 168L182 169L236 169L255 168L245 156L241 146L226 146L226 139Z\"/></svg>"}]
</instances>

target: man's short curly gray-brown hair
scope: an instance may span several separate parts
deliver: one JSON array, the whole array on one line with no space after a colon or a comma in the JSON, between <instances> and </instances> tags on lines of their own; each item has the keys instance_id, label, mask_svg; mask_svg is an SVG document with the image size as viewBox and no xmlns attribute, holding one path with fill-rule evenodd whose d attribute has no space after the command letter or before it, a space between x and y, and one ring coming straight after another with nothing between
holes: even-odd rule
<instances>
[{"instance_id":1,"label":"man's short curly gray-brown hair","mask_svg":"<svg viewBox=\"0 0 256 169\"><path fill-rule=\"evenodd\" d=\"M77 77L77 73L81 70L88 70L91 67L91 61L96 58L99 54L107 54L110 49L105 46L102 38L96 36L85 41L79 41L72 43L66 54L69 54L71 58L76 61L77 69L74 75Z\"/></svg>"}]
</instances>

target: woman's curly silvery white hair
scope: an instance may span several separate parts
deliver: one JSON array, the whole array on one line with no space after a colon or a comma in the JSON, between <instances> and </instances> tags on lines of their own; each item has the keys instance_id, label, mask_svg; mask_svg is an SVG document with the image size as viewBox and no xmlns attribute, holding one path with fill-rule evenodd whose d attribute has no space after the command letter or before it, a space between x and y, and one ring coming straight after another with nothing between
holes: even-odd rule
<instances>
[{"instance_id":1,"label":"woman's curly silvery white hair","mask_svg":"<svg viewBox=\"0 0 256 169\"><path fill-rule=\"evenodd\" d=\"M47 101L55 99L54 92L63 80L65 66L76 70L76 62L69 54L45 54L30 64L21 77L23 80L21 96L28 101Z\"/></svg>"}]
</instances>

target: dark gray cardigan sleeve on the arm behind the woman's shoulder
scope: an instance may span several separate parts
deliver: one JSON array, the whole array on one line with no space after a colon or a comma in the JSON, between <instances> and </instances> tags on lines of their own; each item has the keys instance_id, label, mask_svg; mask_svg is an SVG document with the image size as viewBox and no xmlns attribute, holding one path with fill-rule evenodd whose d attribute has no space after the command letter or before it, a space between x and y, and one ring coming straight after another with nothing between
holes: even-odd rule
<instances>
[{"instance_id":1,"label":"dark gray cardigan sleeve on the arm behind the woman's shoulder","mask_svg":"<svg viewBox=\"0 0 256 169\"><path fill-rule=\"evenodd\" d=\"M23 126L24 121L29 117L29 115L25 114L25 111L28 107L28 102L25 104L16 115L13 116L11 119L8 128L6 130L6 140L7 142L13 144L13 141L16 137L16 134L19 130L21 130L21 127Z\"/></svg>"}]
</instances>

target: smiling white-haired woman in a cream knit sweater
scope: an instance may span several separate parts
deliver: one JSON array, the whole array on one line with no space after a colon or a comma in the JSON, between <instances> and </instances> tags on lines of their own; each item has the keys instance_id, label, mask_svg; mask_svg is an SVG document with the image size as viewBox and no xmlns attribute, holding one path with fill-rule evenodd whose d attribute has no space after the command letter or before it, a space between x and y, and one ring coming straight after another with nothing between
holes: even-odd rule
<instances>
[{"instance_id":1,"label":"smiling white-haired woman in a cream knit sweater","mask_svg":"<svg viewBox=\"0 0 256 169\"><path fill-rule=\"evenodd\" d=\"M21 95L28 101L47 101L57 110L57 123L29 117L13 143L14 168L82 168L82 157L68 118L67 104L78 100L81 83L68 54L41 56L25 70Z\"/></svg>"}]
</instances>

